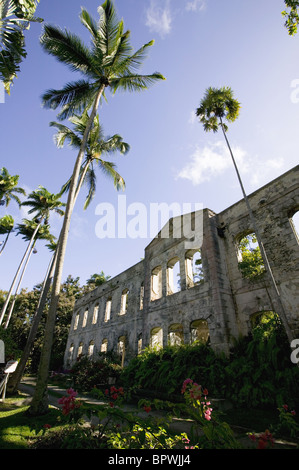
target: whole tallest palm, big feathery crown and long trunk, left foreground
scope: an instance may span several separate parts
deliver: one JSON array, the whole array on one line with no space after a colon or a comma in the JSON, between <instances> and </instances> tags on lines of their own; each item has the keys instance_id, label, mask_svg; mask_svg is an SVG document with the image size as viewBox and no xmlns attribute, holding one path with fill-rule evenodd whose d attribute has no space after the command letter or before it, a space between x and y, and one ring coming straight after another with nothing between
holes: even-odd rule
<instances>
[{"instance_id":1,"label":"whole tallest palm, big feathery crown and long trunk, left foreground","mask_svg":"<svg viewBox=\"0 0 299 470\"><path fill-rule=\"evenodd\" d=\"M100 100L105 96L106 88L109 88L113 93L118 90L141 91L146 90L148 86L159 80L164 80L164 77L157 72L151 75L137 73L148 48L153 45L153 41L132 53L130 32L124 32L123 21L117 19L113 2L106 0L99 7L98 12L100 15L98 22L84 8L80 14L81 23L91 34L91 48L87 48L78 36L50 25L45 26L41 38L42 47L46 52L83 76L76 82L66 84L61 90L46 92L43 95L44 106L51 109L62 107L59 114L61 120L72 117L74 114L80 115L86 109L91 109L91 113L69 186L65 216L57 248L57 264L48 312L48 326L46 326L35 394L29 409L29 414L32 415L42 414L48 410L48 370L68 232L88 136Z\"/></svg>"}]
</instances>

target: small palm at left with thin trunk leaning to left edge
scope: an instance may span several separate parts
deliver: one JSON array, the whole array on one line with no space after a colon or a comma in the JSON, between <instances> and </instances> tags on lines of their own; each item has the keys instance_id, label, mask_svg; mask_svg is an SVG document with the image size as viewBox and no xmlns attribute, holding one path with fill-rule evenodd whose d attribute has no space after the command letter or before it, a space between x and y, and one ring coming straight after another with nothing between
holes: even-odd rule
<instances>
[{"instance_id":1,"label":"small palm at left with thin trunk leaning to left edge","mask_svg":"<svg viewBox=\"0 0 299 470\"><path fill-rule=\"evenodd\" d=\"M13 282L11 284L10 290L8 292L7 298L4 302L4 305L2 307L2 311L0 314L0 325L3 322L3 318L11 297L12 290L15 286L15 283L17 281L17 278L19 276L19 273L21 272L22 266L25 262L25 259L27 258L29 251L32 247L32 244L34 243L34 240L36 238L37 233L43 230L42 227L42 222L45 221L46 225L48 223L49 215L51 211L56 212L59 215L63 215L63 210L61 209L62 206L65 206L65 203L60 201L60 194L51 194L49 191L47 191L46 188L43 186L39 186L36 191L33 191L32 193L29 194L28 199L24 201L21 205L22 206L30 206L31 209L28 211L29 214L35 213L36 217L35 220L32 221L34 225L34 231L32 233L32 236L30 238L30 241L28 243L27 249L23 255L23 258L21 260L21 263L19 265L19 268L15 274L15 277L13 279ZM26 219L25 219L26 220ZM26 222L25 222L26 223ZM28 224L30 224L31 221L28 221Z\"/></svg>"}]
</instances>

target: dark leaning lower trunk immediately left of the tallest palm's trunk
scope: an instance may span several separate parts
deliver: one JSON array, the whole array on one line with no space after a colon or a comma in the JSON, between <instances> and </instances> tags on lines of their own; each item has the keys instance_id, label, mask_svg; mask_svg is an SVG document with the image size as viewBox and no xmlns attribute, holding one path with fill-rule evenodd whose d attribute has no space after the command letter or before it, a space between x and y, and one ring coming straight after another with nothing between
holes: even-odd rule
<instances>
[{"instance_id":1,"label":"dark leaning lower trunk immediately left of the tallest palm's trunk","mask_svg":"<svg viewBox=\"0 0 299 470\"><path fill-rule=\"evenodd\" d=\"M37 329L38 329L38 326L39 326L39 323L40 323L40 320L41 320L41 317L42 317L42 314L46 305L47 296L48 296L48 293L52 284L54 271L55 271L55 264L56 264L56 253L57 252L53 254L50 264L47 269L47 273L46 273L46 276L43 282L43 287L41 290L41 294L39 297L39 302L35 311L35 315L32 320L32 325L30 328L30 332L29 332L21 359L17 365L15 372L10 376L10 380L8 383L9 393L15 393L17 391L19 383L22 379L29 354L30 354L30 351L32 349L32 346L36 337Z\"/></svg>"}]
</instances>

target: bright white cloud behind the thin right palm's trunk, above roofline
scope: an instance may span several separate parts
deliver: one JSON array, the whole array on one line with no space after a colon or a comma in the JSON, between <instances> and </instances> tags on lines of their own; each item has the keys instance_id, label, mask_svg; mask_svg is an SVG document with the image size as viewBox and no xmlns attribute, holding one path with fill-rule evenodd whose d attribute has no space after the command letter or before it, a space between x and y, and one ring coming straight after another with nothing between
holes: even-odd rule
<instances>
[{"instance_id":1,"label":"bright white cloud behind the thin right palm's trunk, above roofline","mask_svg":"<svg viewBox=\"0 0 299 470\"><path fill-rule=\"evenodd\" d=\"M268 160L262 160L258 156L253 158L239 146L232 146L232 152L241 178L245 176L246 184L251 188L258 188L267 183L284 165L283 158ZM231 155L225 142L218 141L204 148L197 148L189 162L178 172L176 179L187 179L196 186L222 175L227 170L234 171Z\"/></svg>"}]
</instances>

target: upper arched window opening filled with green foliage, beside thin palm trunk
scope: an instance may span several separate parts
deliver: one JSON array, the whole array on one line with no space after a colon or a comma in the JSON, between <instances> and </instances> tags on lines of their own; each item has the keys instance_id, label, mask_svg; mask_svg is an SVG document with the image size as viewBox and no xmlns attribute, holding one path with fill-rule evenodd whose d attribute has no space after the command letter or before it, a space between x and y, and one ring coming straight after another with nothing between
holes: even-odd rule
<instances>
[{"instance_id":1,"label":"upper arched window opening filled with green foliage, beside thin palm trunk","mask_svg":"<svg viewBox=\"0 0 299 470\"><path fill-rule=\"evenodd\" d=\"M264 262L254 232L239 239L238 262L242 276L254 279L265 272Z\"/></svg>"}]
</instances>

